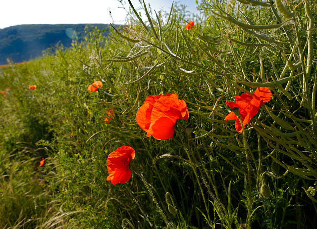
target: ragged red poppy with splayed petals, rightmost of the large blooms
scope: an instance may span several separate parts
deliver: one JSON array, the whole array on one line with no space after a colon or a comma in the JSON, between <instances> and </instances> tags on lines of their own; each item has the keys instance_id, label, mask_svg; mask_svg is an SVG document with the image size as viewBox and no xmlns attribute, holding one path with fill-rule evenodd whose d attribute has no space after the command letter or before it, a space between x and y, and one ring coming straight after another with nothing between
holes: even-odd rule
<instances>
[{"instance_id":1,"label":"ragged red poppy with splayed petals, rightmost of the large blooms","mask_svg":"<svg viewBox=\"0 0 317 229\"><path fill-rule=\"evenodd\" d=\"M226 104L230 107L238 107L240 118L243 126L247 125L250 120L259 112L260 106L265 102L268 102L272 98L272 93L268 88L258 87L257 90L252 94L242 93L241 95L235 95L236 102L226 101ZM236 120L237 132L242 132L242 126L238 116L231 111L224 120Z\"/></svg>"}]
</instances>

